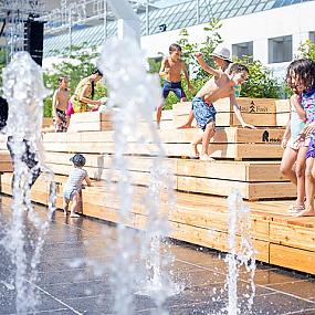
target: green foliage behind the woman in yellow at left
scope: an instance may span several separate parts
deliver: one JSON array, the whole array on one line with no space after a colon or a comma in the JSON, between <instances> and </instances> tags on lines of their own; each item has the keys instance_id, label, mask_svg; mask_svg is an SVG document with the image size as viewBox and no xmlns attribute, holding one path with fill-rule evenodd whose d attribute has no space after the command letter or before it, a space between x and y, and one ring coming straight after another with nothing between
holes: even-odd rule
<instances>
[{"instance_id":1,"label":"green foliage behind the woman in yellow at left","mask_svg":"<svg viewBox=\"0 0 315 315\"><path fill-rule=\"evenodd\" d=\"M98 53L95 48L84 50L83 46L72 46L71 50L66 50L61 55L63 61L53 64L52 73L44 73L44 83L51 88L52 94L59 87L57 80L60 76L67 75L70 77L69 87L71 94L73 94L78 82L91 75L91 72L95 69ZM104 96L106 88L102 84L96 84L94 98L97 99ZM52 94L44 99L44 117L52 116Z\"/></svg>"}]
</instances>

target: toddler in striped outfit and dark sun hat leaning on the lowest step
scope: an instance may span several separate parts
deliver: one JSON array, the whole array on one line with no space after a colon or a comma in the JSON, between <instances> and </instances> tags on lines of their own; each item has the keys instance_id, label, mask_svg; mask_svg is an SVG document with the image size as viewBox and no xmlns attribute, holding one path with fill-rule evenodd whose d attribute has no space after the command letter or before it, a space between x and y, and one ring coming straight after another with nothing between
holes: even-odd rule
<instances>
[{"instance_id":1,"label":"toddler in striped outfit and dark sun hat leaning on the lowest step","mask_svg":"<svg viewBox=\"0 0 315 315\"><path fill-rule=\"evenodd\" d=\"M82 189L82 182L85 180L87 186L92 186L92 183L86 170L82 169L85 165L85 157L76 154L70 160L73 162L74 169L71 171L63 189L63 210L66 214L69 202L70 200L73 200L70 217L78 218L80 216L76 213L76 208L78 203L78 193Z\"/></svg>"}]
</instances>

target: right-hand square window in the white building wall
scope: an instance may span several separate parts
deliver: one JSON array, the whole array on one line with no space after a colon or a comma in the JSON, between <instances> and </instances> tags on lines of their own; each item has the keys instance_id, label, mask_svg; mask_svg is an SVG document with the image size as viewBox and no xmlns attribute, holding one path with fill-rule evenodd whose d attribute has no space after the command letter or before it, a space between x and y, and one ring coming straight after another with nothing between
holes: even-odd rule
<instances>
[{"instance_id":1,"label":"right-hand square window in the white building wall","mask_svg":"<svg viewBox=\"0 0 315 315\"><path fill-rule=\"evenodd\" d=\"M292 61L292 35L269 39L269 63Z\"/></svg>"}]
</instances>

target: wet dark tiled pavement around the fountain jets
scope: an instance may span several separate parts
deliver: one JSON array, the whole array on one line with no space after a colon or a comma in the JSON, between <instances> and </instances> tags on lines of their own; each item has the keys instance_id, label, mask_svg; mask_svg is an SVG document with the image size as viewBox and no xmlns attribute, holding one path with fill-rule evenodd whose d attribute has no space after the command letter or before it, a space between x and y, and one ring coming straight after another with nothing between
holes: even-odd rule
<instances>
[{"instance_id":1,"label":"wet dark tiled pavement around the fountain jets","mask_svg":"<svg viewBox=\"0 0 315 315\"><path fill-rule=\"evenodd\" d=\"M10 202L0 197L0 239L10 222ZM35 206L44 216L45 209ZM31 229L31 228L30 228ZM30 231L32 234L32 231ZM56 211L45 237L38 265L36 294L40 303L31 314L114 314L114 292L106 266L113 256L116 228L88 218L65 218ZM111 246L109 246L111 244ZM227 314L227 265L223 254L181 242L170 242L167 251L174 258L171 271L182 291L168 297L168 314ZM83 263L82 263L83 262ZM91 264L98 265L94 269ZM95 272L96 271L96 272ZM8 285L12 265L0 245L0 314L17 314L14 287ZM239 296L249 292L249 276L241 271ZM315 279L306 274L258 264L255 298L252 312L241 305L240 314L315 315ZM240 298L241 300L241 298ZM135 314L159 314L154 301L134 295ZM132 314L132 313L130 313Z\"/></svg>"}]
</instances>

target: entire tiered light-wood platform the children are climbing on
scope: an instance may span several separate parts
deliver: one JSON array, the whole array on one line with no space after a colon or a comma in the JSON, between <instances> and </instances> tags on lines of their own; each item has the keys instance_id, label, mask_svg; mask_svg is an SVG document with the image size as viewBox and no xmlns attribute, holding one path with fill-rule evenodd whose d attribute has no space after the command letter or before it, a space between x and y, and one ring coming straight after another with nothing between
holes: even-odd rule
<instances>
[{"instance_id":1,"label":"entire tiered light-wood platform the children are climbing on","mask_svg":"<svg viewBox=\"0 0 315 315\"><path fill-rule=\"evenodd\" d=\"M231 127L234 123L229 104L225 101L221 105L217 104L218 118L227 114L229 122L225 120L227 126L218 128L210 144L210 154L216 161L189 158L191 141L200 135L199 129L175 128L180 123L179 119L187 119L190 104L180 103L172 111L165 111L160 130L153 132L145 122L139 122L138 129L128 136L128 144L124 148L134 199L123 223L136 229L146 228L147 209L144 197L147 195L150 171L157 155L154 134L158 133L166 155L165 165L176 195L172 211L169 211L169 204L165 200L161 200L160 206L160 211L168 213L171 238L227 251L225 197L237 189L244 199L250 200L245 203L251 209L258 259L315 274L315 218L296 219L287 214L292 202L288 199L295 197L295 188L279 171L282 157L280 141L284 133L283 124L279 122L280 117L283 122L287 118L288 103L250 98L240 103L241 111L252 115L255 122L260 119L261 127L255 130ZM272 120L266 120L267 116ZM45 162L56 174L59 183L57 207L62 204L63 185L72 169L70 158L75 153L82 153L86 157L85 169L94 180L94 187L83 190L83 213L119 222L119 202L115 197L118 196L117 172L112 171L108 180L115 153L112 118L108 114L98 113L74 115L69 133L45 134L43 141ZM0 150L6 151L3 136L0 136ZM3 193L11 193L10 182L11 174L2 174ZM34 185L32 199L46 204L48 185L44 178L40 178Z\"/></svg>"}]
</instances>

